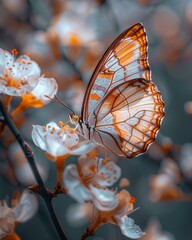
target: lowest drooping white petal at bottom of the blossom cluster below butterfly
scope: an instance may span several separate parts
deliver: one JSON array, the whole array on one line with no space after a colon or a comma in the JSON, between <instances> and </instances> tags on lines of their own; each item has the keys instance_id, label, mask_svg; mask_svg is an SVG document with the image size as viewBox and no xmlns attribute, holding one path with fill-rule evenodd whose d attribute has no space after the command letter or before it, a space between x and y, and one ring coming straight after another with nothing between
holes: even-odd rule
<instances>
[{"instance_id":1,"label":"lowest drooping white petal at bottom of the blossom cluster below butterfly","mask_svg":"<svg viewBox=\"0 0 192 240\"><path fill-rule=\"evenodd\" d=\"M145 235L144 232L141 231L141 228L135 224L135 221L132 218L127 216L124 217L115 217L121 232L126 237L137 239Z\"/></svg>"}]
</instances>

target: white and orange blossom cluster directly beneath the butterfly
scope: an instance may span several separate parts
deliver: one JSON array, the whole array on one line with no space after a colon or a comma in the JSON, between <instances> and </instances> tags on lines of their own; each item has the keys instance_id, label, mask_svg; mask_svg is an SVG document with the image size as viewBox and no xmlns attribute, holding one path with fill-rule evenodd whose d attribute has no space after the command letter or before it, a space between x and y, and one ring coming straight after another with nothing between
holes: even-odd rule
<instances>
[{"instance_id":1,"label":"white and orange blossom cluster directly beneath the butterfly","mask_svg":"<svg viewBox=\"0 0 192 240\"><path fill-rule=\"evenodd\" d=\"M46 126L33 126L32 139L46 151L49 159L51 156L51 160L56 161L66 155L80 155L77 165L65 167L63 184L67 193L77 202L94 205L96 215L90 231L95 232L100 225L110 222L119 225L127 237L136 239L144 235L134 220L127 217L134 203L129 192L116 192L108 188L119 180L121 169L110 159L98 158L93 142L79 142L74 129L68 125L58 126L54 122Z\"/></svg>"}]
</instances>

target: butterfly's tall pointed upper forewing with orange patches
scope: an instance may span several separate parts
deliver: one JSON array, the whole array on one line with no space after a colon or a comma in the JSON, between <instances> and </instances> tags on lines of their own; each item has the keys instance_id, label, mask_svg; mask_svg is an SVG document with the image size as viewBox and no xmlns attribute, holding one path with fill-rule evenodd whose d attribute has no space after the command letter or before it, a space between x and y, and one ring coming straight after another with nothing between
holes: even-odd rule
<instances>
[{"instance_id":1,"label":"butterfly's tall pointed upper forewing with orange patches","mask_svg":"<svg viewBox=\"0 0 192 240\"><path fill-rule=\"evenodd\" d=\"M147 46L145 29L141 23L124 31L111 44L87 87L81 113L83 121L115 86L136 78L151 80Z\"/></svg>"}]
</instances>

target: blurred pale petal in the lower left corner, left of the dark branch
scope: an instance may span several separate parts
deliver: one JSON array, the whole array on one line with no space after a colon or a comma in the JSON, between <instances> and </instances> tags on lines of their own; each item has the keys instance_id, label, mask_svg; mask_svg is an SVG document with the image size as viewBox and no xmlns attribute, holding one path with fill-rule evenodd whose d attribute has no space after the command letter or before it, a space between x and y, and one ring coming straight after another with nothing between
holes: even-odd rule
<instances>
[{"instance_id":1,"label":"blurred pale petal in the lower left corner, left of the dark branch","mask_svg":"<svg viewBox=\"0 0 192 240\"><path fill-rule=\"evenodd\" d=\"M15 211L15 220L17 222L26 222L37 212L38 202L35 195L29 191L24 191L19 204L13 208Z\"/></svg>"}]
</instances>

